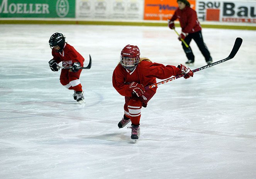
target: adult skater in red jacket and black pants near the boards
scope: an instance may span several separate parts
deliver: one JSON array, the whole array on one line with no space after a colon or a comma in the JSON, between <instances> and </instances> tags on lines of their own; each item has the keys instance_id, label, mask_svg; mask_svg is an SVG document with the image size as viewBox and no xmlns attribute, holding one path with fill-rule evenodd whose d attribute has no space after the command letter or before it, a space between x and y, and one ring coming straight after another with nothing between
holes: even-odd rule
<instances>
[{"instance_id":1,"label":"adult skater in red jacket and black pants near the boards","mask_svg":"<svg viewBox=\"0 0 256 179\"><path fill-rule=\"evenodd\" d=\"M203 42L202 36L202 28L197 19L197 12L190 8L190 3L187 0L177 0L178 8L176 9L173 17L168 20L168 26L171 29L175 28L174 21L178 18L180 21L181 34L179 36L179 40L181 38L189 45L191 40L195 40L197 46L201 53L203 54L205 61L207 64L212 63L212 57L210 56L210 52L207 49L207 46ZM187 48L182 43L183 50L186 53L186 57L188 61L186 64L193 64L195 61L195 56L193 55L192 49L190 46Z\"/></svg>"}]
</instances>

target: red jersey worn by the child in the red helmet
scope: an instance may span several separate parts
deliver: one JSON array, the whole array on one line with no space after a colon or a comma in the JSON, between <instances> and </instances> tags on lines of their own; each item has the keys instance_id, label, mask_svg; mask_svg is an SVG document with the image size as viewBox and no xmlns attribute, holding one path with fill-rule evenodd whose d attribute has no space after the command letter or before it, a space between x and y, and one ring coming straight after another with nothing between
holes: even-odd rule
<instances>
[{"instance_id":1,"label":"red jersey worn by the child in the red helmet","mask_svg":"<svg viewBox=\"0 0 256 179\"><path fill-rule=\"evenodd\" d=\"M112 83L115 90L122 96L132 96L129 83L134 81L143 86L148 86L156 83L156 78L163 80L171 76L180 75L179 71L180 69L176 66L164 66L163 64L146 60L142 60L134 71L129 71L119 63L113 72ZM151 88L151 90L156 91L156 88Z\"/></svg>"}]
</instances>

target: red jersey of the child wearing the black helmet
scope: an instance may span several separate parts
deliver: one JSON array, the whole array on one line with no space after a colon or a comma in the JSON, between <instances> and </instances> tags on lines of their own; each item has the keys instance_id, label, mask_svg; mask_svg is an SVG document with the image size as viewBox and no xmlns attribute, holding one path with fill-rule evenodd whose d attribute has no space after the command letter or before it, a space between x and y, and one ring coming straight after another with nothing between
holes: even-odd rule
<instances>
[{"instance_id":1,"label":"red jersey of the child wearing the black helmet","mask_svg":"<svg viewBox=\"0 0 256 179\"><path fill-rule=\"evenodd\" d=\"M53 59L56 60L57 63L62 61L63 66L72 66L74 62L81 63L83 66L83 62L85 59L80 53L78 53L75 48L68 43L65 43L63 51L55 52L52 50Z\"/></svg>"}]
</instances>

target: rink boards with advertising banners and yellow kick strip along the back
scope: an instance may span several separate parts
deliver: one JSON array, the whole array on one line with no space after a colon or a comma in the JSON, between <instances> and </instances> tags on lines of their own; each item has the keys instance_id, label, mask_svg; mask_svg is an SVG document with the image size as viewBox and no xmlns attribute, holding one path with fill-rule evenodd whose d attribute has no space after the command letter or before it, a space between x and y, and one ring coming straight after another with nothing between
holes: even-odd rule
<instances>
[{"instance_id":1,"label":"rink boards with advertising banners and yellow kick strip along the back","mask_svg":"<svg viewBox=\"0 0 256 179\"><path fill-rule=\"evenodd\" d=\"M256 30L256 0L188 1L203 27ZM176 8L176 0L0 0L0 23L166 26Z\"/></svg>"}]
</instances>

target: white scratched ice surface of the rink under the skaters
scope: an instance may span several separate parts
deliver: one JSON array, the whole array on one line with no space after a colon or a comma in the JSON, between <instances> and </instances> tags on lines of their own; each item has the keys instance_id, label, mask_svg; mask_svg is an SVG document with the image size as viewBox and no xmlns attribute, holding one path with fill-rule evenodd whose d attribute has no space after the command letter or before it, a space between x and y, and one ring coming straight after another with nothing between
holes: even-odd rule
<instances>
[{"instance_id":1,"label":"white scratched ice surface of the rink under the skaters","mask_svg":"<svg viewBox=\"0 0 256 179\"><path fill-rule=\"evenodd\" d=\"M180 32L180 28L176 28ZM50 70L48 41L66 36L92 68L83 70L78 104ZM0 25L1 179L253 179L256 178L256 31L203 28L214 61L229 61L158 87L142 109L141 136L117 127L124 97L112 86L120 51L185 64L168 27ZM206 65L194 41L195 64ZM160 80L158 80L160 81ZM129 126L129 125L127 125Z\"/></svg>"}]
</instances>

